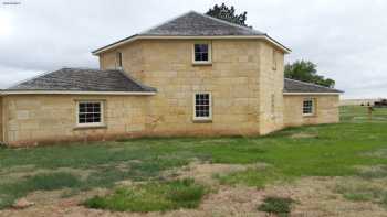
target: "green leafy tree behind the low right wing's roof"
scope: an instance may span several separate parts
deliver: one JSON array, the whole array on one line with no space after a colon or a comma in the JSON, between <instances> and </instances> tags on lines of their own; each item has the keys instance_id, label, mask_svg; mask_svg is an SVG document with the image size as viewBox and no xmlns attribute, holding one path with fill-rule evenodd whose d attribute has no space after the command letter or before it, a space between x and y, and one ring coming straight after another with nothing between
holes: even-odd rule
<instances>
[{"instance_id":1,"label":"green leafy tree behind the low right wing's roof","mask_svg":"<svg viewBox=\"0 0 387 217\"><path fill-rule=\"evenodd\" d=\"M285 65L285 77L306 83L314 83L325 87L335 87L335 80L317 75L317 65L312 62L296 61Z\"/></svg>"}]
</instances>

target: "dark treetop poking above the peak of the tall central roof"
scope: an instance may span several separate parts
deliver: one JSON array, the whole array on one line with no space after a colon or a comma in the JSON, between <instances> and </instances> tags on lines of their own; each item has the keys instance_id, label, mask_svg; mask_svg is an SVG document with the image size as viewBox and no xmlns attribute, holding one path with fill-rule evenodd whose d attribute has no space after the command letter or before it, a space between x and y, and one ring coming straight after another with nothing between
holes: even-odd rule
<instances>
[{"instance_id":1,"label":"dark treetop poking above the peak of the tall central roof","mask_svg":"<svg viewBox=\"0 0 387 217\"><path fill-rule=\"evenodd\" d=\"M231 23L248 26L245 24L245 20L248 19L247 18L248 12L244 11L241 14L236 14L236 9L233 8L233 6L229 8L224 3L222 3L220 7L218 4L215 4L213 8L209 9L206 14L211 15L213 18L221 19L221 20L226 20ZM252 28L252 26L249 26L249 28Z\"/></svg>"}]
</instances>

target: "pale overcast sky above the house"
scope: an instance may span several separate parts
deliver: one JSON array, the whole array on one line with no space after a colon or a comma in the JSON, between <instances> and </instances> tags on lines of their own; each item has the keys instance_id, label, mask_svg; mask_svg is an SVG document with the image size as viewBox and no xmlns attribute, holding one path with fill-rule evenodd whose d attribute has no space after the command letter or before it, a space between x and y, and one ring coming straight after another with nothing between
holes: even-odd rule
<instances>
[{"instance_id":1,"label":"pale overcast sky above the house","mask_svg":"<svg viewBox=\"0 0 387 217\"><path fill-rule=\"evenodd\" d=\"M344 98L387 97L387 0L0 0L0 88L63 66L96 68L91 51L221 2L291 47L286 62L316 63Z\"/></svg>"}]
</instances>

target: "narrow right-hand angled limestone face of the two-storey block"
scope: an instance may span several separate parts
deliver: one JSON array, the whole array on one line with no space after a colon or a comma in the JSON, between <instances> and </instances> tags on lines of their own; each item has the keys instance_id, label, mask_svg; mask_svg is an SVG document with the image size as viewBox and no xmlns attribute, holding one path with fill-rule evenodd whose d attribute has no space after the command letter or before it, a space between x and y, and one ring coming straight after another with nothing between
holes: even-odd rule
<instances>
[{"instance_id":1,"label":"narrow right-hand angled limestone face of the two-storey block","mask_svg":"<svg viewBox=\"0 0 387 217\"><path fill-rule=\"evenodd\" d=\"M260 42L260 129L266 134L283 128L284 53Z\"/></svg>"}]
</instances>

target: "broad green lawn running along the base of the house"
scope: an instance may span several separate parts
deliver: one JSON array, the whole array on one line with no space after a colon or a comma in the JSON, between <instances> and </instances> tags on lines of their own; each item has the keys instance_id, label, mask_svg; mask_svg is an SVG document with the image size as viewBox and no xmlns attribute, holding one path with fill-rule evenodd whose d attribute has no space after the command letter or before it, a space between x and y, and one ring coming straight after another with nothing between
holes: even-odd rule
<instances>
[{"instance_id":1,"label":"broad green lawn running along the base of the house","mask_svg":"<svg viewBox=\"0 0 387 217\"><path fill-rule=\"evenodd\" d=\"M10 199L4 199L9 195L14 199L35 191L27 187L10 192L7 187L31 182L30 173L38 170L88 171L84 178L72 174L80 183L66 187L74 191L111 188L124 180L159 182L164 171L194 160L268 164L264 170L218 176L223 184L260 188L268 183L305 176L359 175L358 166L387 165L387 109L376 109L373 116L368 120L365 107L342 107L341 123L290 128L266 137L145 138L33 149L0 148L0 207L10 204ZM300 133L313 137L293 137Z\"/></svg>"}]
</instances>

